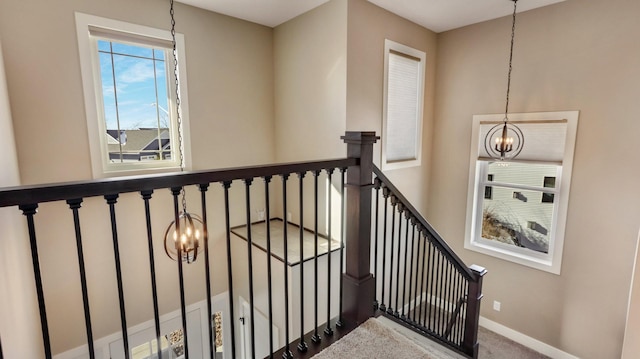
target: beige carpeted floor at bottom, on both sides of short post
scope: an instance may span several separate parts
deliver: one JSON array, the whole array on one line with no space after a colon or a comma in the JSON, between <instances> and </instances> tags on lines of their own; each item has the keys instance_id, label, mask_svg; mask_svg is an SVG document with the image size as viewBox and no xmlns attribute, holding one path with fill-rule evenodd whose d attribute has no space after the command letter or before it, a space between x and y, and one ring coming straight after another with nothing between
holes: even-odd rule
<instances>
[{"instance_id":1,"label":"beige carpeted floor at bottom, on both sides of short post","mask_svg":"<svg viewBox=\"0 0 640 359\"><path fill-rule=\"evenodd\" d=\"M480 327L480 359L546 359L523 345ZM353 332L315 355L313 359L335 358L422 358L462 359L453 351L412 332L393 321L379 317L369 319Z\"/></svg>"}]
</instances>

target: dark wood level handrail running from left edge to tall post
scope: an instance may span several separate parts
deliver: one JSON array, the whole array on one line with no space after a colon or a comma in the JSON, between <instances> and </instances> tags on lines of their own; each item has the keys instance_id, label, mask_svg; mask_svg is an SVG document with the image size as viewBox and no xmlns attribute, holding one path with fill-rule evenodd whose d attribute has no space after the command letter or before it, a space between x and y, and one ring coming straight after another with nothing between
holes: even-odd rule
<instances>
[{"instance_id":1,"label":"dark wood level handrail running from left edge to tall post","mask_svg":"<svg viewBox=\"0 0 640 359\"><path fill-rule=\"evenodd\" d=\"M291 162L263 166L235 167L220 170L185 171L173 174L127 176L88 181L61 182L0 188L0 207L30 205L105 194L139 192L159 188L182 187L238 179L276 176L357 165L357 158L314 162Z\"/></svg>"}]
</instances>

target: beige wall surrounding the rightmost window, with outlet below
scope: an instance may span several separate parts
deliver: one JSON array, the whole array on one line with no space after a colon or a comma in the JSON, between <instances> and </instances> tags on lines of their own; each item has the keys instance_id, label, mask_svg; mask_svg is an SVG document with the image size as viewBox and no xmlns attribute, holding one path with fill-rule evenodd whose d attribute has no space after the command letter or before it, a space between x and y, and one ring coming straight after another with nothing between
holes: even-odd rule
<instances>
[{"instance_id":1,"label":"beige wall surrounding the rightmost window, with outlet below","mask_svg":"<svg viewBox=\"0 0 640 359\"><path fill-rule=\"evenodd\" d=\"M427 218L489 270L484 317L580 358L621 354L640 218L638 13L634 0L591 0L518 15L510 110L580 110L559 276L463 249L471 116L504 108L511 21L438 37Z\"/></svg>"}]
</instances>

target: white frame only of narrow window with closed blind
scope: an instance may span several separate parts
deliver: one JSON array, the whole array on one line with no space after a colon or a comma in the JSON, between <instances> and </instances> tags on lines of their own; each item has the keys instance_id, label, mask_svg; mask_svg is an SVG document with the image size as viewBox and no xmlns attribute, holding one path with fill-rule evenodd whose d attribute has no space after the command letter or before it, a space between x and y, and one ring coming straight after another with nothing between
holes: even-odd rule
<instances>
[{"instance_id":1,"label":"white frame only of narrow window with closed blind","mask_svg":"<svg viewBox=\"0 0 640 359\"><path fill-rule=\"evenodd\" d=\"M387 133L388 133L388 100L389 100L389 54L396 52L419 60L418 94L416 98L416 148L415 158L398 161L387 160ZM415 167L421 165L422 159L422 122L424 113L424 82L425 82L426 54L409 46L385 39L384 41L384 97L382 115L382 148L381 164L382 170L395 170L400 168Z\"/></svg>"}]
</instances>

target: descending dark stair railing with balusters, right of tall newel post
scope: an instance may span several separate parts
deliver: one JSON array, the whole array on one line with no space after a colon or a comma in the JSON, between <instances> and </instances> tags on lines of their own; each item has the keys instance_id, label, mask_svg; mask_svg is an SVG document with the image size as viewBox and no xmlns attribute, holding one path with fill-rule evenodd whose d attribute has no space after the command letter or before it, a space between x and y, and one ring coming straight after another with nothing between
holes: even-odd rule
<instances>
[{"instance_id":1,"label":"descending dark stair railing with balusters, right of tall newel post","mask_svg":"<svg viewBox=\"0 0 640 359\"><path fill-rule=\"evenodd\" d=\"M484 268L467 267L410 201L373 168L374 307L468 356L478 355Z\"/></svg>"}]
</instances>

